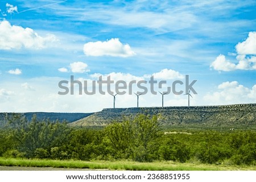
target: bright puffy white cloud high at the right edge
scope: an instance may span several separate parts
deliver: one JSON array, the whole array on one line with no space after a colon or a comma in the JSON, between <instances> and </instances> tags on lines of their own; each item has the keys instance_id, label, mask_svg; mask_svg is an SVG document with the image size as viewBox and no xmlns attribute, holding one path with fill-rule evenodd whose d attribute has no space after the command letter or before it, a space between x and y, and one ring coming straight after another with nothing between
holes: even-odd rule
<instances>
[{"instance_id":1,"label":"bright puffy white cloud high at the right edge","mask_svg":"<svg viewBox=\"0 0 256 182\"><path fill-rule=\"evenodd\" d=\"M238 43L236 51L238 63L230 62L220 54L210 67L218 71L256 70L256 57L253 56L256 55L256 32L250 32L245 41Z\"/></svg>"}]
</instances>

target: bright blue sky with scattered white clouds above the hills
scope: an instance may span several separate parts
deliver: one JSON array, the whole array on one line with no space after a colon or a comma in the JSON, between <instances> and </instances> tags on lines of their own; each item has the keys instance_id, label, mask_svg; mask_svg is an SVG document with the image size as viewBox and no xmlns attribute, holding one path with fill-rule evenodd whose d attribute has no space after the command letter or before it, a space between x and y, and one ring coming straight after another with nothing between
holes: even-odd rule
<instances>
[{"instance_id":1,"label":"bright blue sky with scattered white clouds above the hills","mask_svg":"<svg viewBox=\"0 0 256 182\"><path fill-rule=\"evenodd\" d=\"M256 1L1 1L0 111L96 112L110 95L58 95L58 83L196 79L191 105L256 102ZM113 88L114 89L114 88ZM134 91L137 91L134 88ZM156 89L156 91L164 91ZM135 107L118 95L117 107ZM161 95L140 96L141 107ZM184 95L164 105L187 105Z\"/></svg>"}]
</instances>

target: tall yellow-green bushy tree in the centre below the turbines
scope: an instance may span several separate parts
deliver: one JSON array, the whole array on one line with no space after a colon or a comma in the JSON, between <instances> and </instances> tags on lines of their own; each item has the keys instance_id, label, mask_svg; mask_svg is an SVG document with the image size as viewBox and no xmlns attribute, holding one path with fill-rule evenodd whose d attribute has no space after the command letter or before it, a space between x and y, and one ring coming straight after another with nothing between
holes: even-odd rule
<instances>
[{"instance_id":1,"label":"tall yellow-green bushy tree in the centre below the turbines","mask_svg":"<svg viewBox=\"0 0 256 182\"><path fill-rule=\"evenodd\" d=\"M137 161L151 160L150 147L160 137L160 116L137 115L126 117L105 128L106 138L117 157Z\"/></svg>"}]
</instances>

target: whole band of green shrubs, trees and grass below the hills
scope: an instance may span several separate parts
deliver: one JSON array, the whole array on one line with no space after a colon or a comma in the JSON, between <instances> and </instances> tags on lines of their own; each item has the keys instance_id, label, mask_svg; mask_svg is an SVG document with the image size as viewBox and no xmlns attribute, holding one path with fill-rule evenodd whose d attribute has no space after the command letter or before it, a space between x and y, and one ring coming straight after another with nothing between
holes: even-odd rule
<instances>
[{"instance_id":1,"label":"whole band of green shrubs, trees and grass below the hills","mask_svg":"<svg viewBox=\"0 0 256 182\"><path fill-rule=\"evenodd\" d=\"M254 130L163 130L160 117L139 114L103 129L88 129L72 128L65 122L41 121L36 116L28 122L22 115L8 115L0 121L0 165L255 170Z\"/></svg>"}]
</instances>

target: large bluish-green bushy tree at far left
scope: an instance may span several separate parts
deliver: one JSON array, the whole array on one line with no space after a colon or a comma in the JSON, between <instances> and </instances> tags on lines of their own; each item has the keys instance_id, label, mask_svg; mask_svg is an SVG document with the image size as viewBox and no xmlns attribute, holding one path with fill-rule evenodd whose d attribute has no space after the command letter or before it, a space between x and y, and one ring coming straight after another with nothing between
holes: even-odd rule
<instances>
[{"instance_id":1,"label":"large bluish-green bushy tree at far left","mask_svg":"<svg viewBox=\"0 0 256 182\"><path fill-rule=\"evenodd\" d=\"M52 147L63 146L71 131L65 123L39 121L35 115L30 122L20 114L12 114L6 119L11 129L11 136L17 143L17 149L26 153L27 157L38 156L42 149L49 151Z\"/></svg>"}]
</instances>

